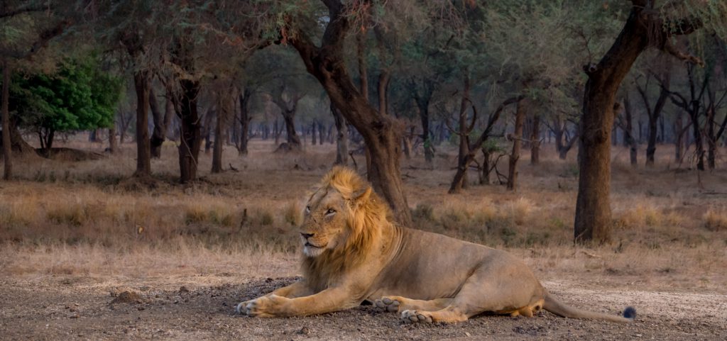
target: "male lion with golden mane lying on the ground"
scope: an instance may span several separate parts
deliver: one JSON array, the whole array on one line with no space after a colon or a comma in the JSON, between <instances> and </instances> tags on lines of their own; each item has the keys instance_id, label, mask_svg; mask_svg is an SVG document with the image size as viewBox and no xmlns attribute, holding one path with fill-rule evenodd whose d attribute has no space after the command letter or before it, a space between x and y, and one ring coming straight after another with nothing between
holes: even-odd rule
<instances>
[{"instance_id":1,"label":"male lion with golden mane lying on the ground","mask_svg":"<svg viewBox=\"0 0 727 341\"><path fill-rule=\"evenodd\" d=\"M629 322L562 303L513 255L407 229L350 168L333 168L308 198L300 226L300 281L239 303L247 316L310 316L363 303L414 322L466 321L480 313L531 317L541 309L579 319Z\"/></svg>"}]
</instances>

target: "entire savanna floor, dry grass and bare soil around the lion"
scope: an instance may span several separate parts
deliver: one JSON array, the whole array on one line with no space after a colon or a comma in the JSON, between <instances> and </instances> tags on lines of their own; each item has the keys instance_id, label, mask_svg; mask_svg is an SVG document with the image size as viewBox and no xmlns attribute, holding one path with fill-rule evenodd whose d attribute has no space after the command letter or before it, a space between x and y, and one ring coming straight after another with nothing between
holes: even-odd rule
<instances>
[{"instance_id":1,"label":"entire savanna floor, dry grass and bare soil around the lion","mask_svg":"<svg viewBox=\"0 0 727 341\"><path fill-rule=\"evenodd\" d=\"M65 147L95 151L100 144ZM504 248L523 258L566 303L637 321L614 324L478 316L443 325L401 324L371 306L322 316L233 315L241 300L294 281L302 197L329 168L333 147L273 154L252 141L225 164L238 171L176 184L173 144L153 160L155 181L130 181L134 145L102 160L19 160L0 182L0 339L3 340L725 340L727 173L670 163L627 165L614 149L614 242L574 247L577 167L545 145L541 165L521 160L520 188L470 186L448 195L453 148L433 170L403 162L417 227ZM358 156L358 164L363 157ZM415 159L415 160L414 160ZM504 160L504 159L503 159ZM230 166L225 168L229 168ZM500 170L505 173L505 163ZM470 174L475 182L475 174Z\"/></svg>"}]
</instances>

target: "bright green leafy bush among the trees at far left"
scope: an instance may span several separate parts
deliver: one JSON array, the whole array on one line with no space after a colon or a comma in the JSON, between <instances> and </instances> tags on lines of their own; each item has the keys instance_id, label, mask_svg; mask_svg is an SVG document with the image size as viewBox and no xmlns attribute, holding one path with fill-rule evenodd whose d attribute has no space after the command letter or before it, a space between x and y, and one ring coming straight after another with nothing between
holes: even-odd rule
<instances>
[{"instance_id":1,"label":"bright green leafy bush among the trees at far left","mask_svg":"<svg viewBox=\"0 0 727 341\"><path fill-rule=\"evenodd\" d=\"M90 130L113 124L121 79L101 70L95 56L65 59L54 73L15 75L12 93L12 107L23 126Z\"/></svg>"}]
</instances>

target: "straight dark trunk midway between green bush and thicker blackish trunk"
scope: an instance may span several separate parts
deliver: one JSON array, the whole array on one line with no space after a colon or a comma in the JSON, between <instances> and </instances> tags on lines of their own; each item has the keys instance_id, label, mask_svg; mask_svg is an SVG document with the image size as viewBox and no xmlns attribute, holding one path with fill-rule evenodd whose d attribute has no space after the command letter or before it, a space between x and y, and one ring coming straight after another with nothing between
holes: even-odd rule
<instances>
[{"instance_id":1,"label":"straight dark trunk midway between green bush and thicker blackish trunk","mask_svg":"<svg viewBox=\"0 0 727 341\"><path fill-rule=\"evenodd\" d=\"M134 176L151 175L151 147L149 141L149 75L146 71L134 73L137 94L137 169Z\"/></svg>"}]
</instances>

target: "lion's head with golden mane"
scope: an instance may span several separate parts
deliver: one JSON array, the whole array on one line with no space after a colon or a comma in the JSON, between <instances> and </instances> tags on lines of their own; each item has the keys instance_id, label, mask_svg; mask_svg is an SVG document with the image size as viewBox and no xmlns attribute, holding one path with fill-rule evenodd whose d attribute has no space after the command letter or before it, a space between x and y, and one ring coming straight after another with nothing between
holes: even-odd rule
<instances>
[{"instance_id":1,"label":"lion's head with golden mane","mask_svg":"<svg viewBox=\"0 0 727 341\"><path fill-rule=\"evenodd\" d=\"M304 271L326 277L361 263L381 238L389 215L385 202L356 171L334 167L305 204L300 226Z\"/></svg>"}]
</instances>

